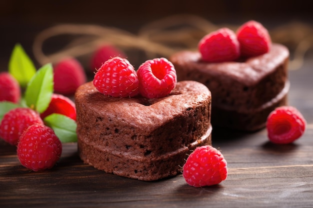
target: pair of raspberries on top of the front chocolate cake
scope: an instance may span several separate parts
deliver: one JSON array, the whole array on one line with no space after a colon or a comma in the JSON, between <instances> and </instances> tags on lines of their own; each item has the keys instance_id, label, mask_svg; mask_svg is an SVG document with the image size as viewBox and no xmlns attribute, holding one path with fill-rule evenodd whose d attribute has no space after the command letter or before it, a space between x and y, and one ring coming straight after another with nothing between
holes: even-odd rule
<instances>
[{"instance_id":1,"label":"pair of raspberries on top of the front chocolate cake","mask_svg":"<svg viewBox=\"0 0 313 208\"><path fill-rule=\"evenodd\" d=\"M168 95L177 82L173 64L166 58L154 58L142 63L137 71L125 58L113 57L96 71L93 85L112 97L160 98Z\"/></svg>"}]
</instances>

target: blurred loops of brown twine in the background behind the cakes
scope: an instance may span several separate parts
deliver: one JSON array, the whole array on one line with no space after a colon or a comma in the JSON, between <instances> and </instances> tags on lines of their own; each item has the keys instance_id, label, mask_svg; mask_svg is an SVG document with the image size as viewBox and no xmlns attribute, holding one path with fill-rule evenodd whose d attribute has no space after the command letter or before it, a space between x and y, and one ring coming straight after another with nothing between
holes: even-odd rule
<instances>
[{"instance_id":1,"label":"blurred loops of brown twine in the background behind the cakes","mask_svg":"<svg viewBox=\"0 0 313 208\"><path fill-rule=\"evenodd\" d=\"M227 26L235 29L239 25ZM220 27L220 25L213 24L199 16L185 14L152 21L142 26L137 35L115 27L93 24L59 24L38 33L32 49L34 57L42 65L47 62L54 63L64 56L83 56L104 43L124 49L138 49L151 58L157 54L168 57L178 50L196 49L202 36ZM303 23L291 22L269 30L269 33L273 42L285 44L289 50L293 49L289 70L299 69L303 65L305 53L312 47L313 37L310 34L313 33L313 29ZM43 52L44 42L59 35L79 37L73 38L59 51L45 54Z\"/></svg>"}]
</instances>

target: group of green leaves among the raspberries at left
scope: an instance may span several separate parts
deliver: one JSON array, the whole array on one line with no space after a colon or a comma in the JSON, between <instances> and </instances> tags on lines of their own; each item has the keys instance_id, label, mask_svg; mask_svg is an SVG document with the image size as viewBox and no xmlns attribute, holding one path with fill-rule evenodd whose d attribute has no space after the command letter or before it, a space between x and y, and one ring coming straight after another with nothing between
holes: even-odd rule
<instances>
[{"instance_id":1,"label":"group of green leaves among the raspberries at left","mask_svg":"<svg viewBox=\"0 0 313 208\"><path fill-rule=\"evenodd\" d=\"M38 113L44 112L53 94L53 68L51 63L38 70L20 44L13 48L9 60L9 73L25 88L24 97L19 104L0 102L0 121L9 110L17 107L28 107ZM53 113L44 118L44 124L53 129L62 143L76 142L76 122L64 115Z\"/></svg>"}]
</instances>

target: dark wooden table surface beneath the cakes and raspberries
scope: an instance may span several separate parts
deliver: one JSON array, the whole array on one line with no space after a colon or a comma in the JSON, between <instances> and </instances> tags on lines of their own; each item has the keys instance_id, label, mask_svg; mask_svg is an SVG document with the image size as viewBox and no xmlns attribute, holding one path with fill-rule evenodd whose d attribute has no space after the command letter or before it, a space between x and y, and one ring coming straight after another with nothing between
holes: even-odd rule
<instances>
[{"instance_id":1,"label":"dark wooden table surface beneath the cakes and raspberries","mask_svg":"<svg viewBox=\"0 0 313 208\"><path fill-rule=\"evenodd\" d=\"M213 130L212 141L228 163L219 185L193 188L178 175L143 182L85 165L76 143L63 144L56 167L23 168L16 148L0 141L0 208L202 208L313 207L313 56L289 72L289 104L307 121L305 134L290 145L273 145L266 131L252 134Z\"/></svg>"}]
</instances>

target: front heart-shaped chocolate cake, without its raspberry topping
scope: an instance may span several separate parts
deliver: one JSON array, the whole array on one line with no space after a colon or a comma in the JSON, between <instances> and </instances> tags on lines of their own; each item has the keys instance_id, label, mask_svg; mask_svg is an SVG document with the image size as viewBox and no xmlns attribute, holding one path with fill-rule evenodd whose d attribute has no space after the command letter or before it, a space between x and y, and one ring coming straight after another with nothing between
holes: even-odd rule
<instances>
[{"instance_id":1,"label":"front heart-shaped chocolate cake, without its raspberry topping","mask_svg":"<svg viewBox=\"0 0 313 208\"><path fill-rule=\"evenodd\" d=\"M79 156L107 173L143 181L175 176L191 150L211 145L211 93L199 82L177 82L153 99L104 96L87 82L75 106Z\"/></svg>"}]
</instances>

